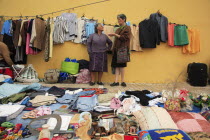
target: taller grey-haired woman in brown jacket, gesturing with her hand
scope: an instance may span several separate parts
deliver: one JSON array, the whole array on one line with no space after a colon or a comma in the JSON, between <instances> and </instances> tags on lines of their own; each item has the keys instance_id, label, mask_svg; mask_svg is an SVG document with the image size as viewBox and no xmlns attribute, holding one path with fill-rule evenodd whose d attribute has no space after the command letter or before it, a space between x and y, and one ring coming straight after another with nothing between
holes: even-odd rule
<instances>
[{"instance_id":1,"label":"taller grey-haired woman in brown jacket, gesturing with her hand","mask_svg":"<svg viewBox=\"0 0 210 140\"><path fill-rule=\"evenodd\" d=\"M114 46L113 46L113 57L112 57L112 67L115 68L115 82L110 86L119 86L119 75L121 75L121 86L126 86L124 81L125 70L124 67L127 66L127 62L129 61L129 44L130 44L130 34L131 28L126 25L126 16L124 14L120 14L117 16L118 23L120 27L116 30L115 33L109 34L109 36L115 36ZM124 52L123 56L126 57L127 61L119 62L118 51L127 50Z\"/></svg>"}]
</instances>

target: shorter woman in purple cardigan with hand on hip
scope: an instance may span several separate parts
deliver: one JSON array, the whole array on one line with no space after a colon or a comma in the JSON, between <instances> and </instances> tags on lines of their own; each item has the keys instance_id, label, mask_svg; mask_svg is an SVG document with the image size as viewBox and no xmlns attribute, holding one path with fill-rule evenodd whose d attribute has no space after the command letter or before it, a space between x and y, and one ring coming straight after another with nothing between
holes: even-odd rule
<instances>
[{"instance_id":1,"label":"shorter woman in purple cardigan with hand on hip","mask_svg":"<svg viewBox=\"0 0 210 140\"><path fill-rule=\"evenodd\" d=\"M103 85L101 78L103 72L108 71L107 51L112 47L112 41L103 34L104 27L98 23L95 25L95 33L87 40L88 53L90 56L89 70L91 73L90 86L95 85L95 74L98 72L98 85ZM107 46L108 44L108 46Z\"/></svg>"}]
</instances>

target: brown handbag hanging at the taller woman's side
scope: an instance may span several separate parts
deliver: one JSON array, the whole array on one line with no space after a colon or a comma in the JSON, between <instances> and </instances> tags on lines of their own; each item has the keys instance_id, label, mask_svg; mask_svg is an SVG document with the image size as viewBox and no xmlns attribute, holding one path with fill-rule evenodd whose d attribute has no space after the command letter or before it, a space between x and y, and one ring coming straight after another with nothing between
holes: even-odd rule
<instances>
[{"instance_id":1,"label":"brown handbag hanging at the taller woman's side","mask_svg":"<svg viewBox=\"0 0 210 140\"><path fill-rule=\"evenodd\" d=\"M117 63L126 63L130 61L130 55L128 52L128 47L120 47L117 50Z\"/></svg>"}]
</instances>

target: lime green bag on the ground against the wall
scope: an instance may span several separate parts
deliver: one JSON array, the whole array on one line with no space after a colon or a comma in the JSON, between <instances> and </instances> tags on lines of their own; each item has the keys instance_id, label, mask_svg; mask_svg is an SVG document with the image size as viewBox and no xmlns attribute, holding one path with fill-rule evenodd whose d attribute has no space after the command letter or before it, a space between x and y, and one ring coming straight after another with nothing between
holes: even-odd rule
<instances>
[{"instance_id":1,"label":"lime green bag on the ground against the wall","mask_svg":"<svg viewBox=\"0 0 210 140\"><path fill-rule=\"evenodd\" d=\"M61 71L70 74L77 74L79 71L79 63L63 61L61 64Z\"/></svg>"}]
</instances>

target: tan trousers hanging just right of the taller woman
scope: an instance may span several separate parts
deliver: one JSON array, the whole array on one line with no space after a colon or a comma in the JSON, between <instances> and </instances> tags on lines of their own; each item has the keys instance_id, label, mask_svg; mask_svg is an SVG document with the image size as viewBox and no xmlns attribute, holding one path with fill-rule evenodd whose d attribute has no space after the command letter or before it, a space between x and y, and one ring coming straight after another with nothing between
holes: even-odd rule
<instances>
[{"instance_id":1,"label":"tan trousers hanging just right of the taller woman","mask_svg":"<svg viewBox=\"0 0 210 140\"><path fill-rule=\"evenodd\" d=\"M139 43L139 27L131 25L130 50L143 51Z\"/></svg>"}]
</instances>

